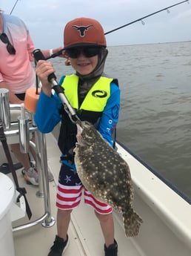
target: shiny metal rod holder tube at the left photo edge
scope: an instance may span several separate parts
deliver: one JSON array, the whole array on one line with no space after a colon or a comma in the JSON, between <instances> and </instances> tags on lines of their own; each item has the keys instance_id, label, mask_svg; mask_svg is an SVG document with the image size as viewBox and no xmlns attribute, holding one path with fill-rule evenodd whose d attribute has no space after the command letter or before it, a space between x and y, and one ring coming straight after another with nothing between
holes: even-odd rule
<instances>
[{"instance_id":1,"label":"shiny metal rod holder tube at the left photo edge","mask_svg":"<svg viewBox=\"0 0 191 256\"><path fill-rule=\"evenodd\" d=\"M0 88L0 117L5 130L10 128L10 100L9 90Z\"/></svg>"}]
</instances>

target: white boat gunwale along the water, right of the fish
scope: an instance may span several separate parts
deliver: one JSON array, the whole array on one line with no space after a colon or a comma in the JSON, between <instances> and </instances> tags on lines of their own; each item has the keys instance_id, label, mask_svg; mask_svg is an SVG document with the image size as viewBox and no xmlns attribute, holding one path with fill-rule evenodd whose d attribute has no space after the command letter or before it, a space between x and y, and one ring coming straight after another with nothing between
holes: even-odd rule
<instances>
[{"instance_id":1,"label":"white boat gunwale along the water, right of the fish","mask_svg":"<svg viewBox=\"0 0 191 256\"><path fill-rule=\"evenodd\" d=\"M116 146L119 146L118 153L130 165L135 194L138 194L138 197L141 197L144 203L158 215L178 240L191 249L190 203L173 189L174 186L167 186L170 182L165 178L160 179L161 174L144 163L144 160L136 156L127 146L118 141Z\"/></svg>"}]
</instances>

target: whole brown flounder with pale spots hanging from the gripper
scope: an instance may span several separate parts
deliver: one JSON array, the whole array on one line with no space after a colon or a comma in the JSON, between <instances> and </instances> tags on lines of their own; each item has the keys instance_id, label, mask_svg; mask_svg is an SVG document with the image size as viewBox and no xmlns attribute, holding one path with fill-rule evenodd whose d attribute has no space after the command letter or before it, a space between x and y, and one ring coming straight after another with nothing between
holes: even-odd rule
<instances>
[{"instance_id":1,"label":"whole brown flounder with pale spots hanging from the gripper","mask_svg":"<svg viewBox=\"0 0 191 256\"><path fill-rule=\"evenodd\" d=\"M77 122L75 163L84 187L124 219L127 237L136 236L142 223L133 210L133 183L127 162L89 122Z\"/></svg>"}]
</instances>

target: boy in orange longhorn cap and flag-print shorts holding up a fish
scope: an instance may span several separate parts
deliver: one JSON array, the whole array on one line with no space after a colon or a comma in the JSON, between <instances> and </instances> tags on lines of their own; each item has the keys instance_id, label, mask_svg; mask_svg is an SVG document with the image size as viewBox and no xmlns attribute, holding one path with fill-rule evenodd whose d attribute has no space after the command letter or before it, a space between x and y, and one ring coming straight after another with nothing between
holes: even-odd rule
<instances>
[{"instance_id":1,"label":"boy in orange longhorn cap and flag-print shorts holding up a fish","mask_svg":"<svg viewBox=\"0 0 191 256\"><path fill-rule=\"evenodd\" d=\"M76 73L62 76L60 85L78 117L92 122L104 140L113 145L112 134L118 122L120 90L116 80L104 75L104 63L108 53L106 47L104 30L96 20L78 18L68 22L64 28L64 50ZM84 186L76 173L74 163L76 125L71 122L58 96L51 93L47 76L53 72L55 70L50 62L38 62L36 73L42 88L35 121L43 133L52 131L61 121L58 146L62 154L56 197L58 234L48 254L61 256L68 245L70 214L79 205ZM105 256L116 256L118 245L114 239L112 208L96 200L86 189L84 200L95 209L96 217L100 221Z\"/></svg>"}]
</instances>

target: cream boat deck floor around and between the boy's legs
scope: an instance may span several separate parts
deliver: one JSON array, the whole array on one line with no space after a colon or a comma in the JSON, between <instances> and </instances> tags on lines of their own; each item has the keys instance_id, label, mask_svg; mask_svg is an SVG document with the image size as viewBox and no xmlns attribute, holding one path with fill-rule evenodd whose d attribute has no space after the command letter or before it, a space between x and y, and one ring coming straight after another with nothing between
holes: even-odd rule
<instances>
[{"instance_id":1,"label":"cream boat deck floor around and between the boy's legs","mask_svg":"<svg viewBox=\"0 0 191 256\"><path fill-rule=\"evenodd\" d=\"M55 177L55 181L50 182L50 205L51 216L56 219L56 183L58 181L58 171L60 168L57 142L52 134L47 134L47 160L50 170ZM44 214L44 199L36 197L38 187L27 185L21 174L21 169L16 171L19 178L19 185L27 189L27 200L33 212L33 217L28 220L24 217L13 222L14 226L20 226L34 220L38 220ZM10 175L10 174L9 174ZM11 175L10 175L11 177ZM140 256L131 238L124 235L124 228L121 222L121 215L113 213L115 220L115 239L118 242L118 256ZM101 233L98 220L91 209L84 205L83 200L78 209L72 214L69 229L69 246L64 253L67 256L88 255L104 256L104 238ZM16 256L46 256L56 235L56 224L49 228L44 228L41 224L13 233Z\"/></svg>"}]
</instances>

